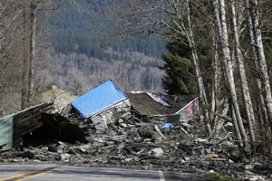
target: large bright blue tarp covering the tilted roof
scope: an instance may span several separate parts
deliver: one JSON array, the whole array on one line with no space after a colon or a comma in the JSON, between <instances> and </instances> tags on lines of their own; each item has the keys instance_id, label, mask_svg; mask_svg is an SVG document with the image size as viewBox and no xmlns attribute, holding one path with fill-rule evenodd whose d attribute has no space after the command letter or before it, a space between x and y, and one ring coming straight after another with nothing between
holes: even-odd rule
<instances>
[{"instance_id":1,"label":"large bright blue tarp covering the tilted roof","mask_svg":"<svg viewBox=\"0 0 272 181\"><path fill-rule=\"evenodd\" d=\"M87 119L127 98L128 96L110 80L84 94L82 97L73 100L71 105L84 119Z\"/></svg>"}]
</instances>

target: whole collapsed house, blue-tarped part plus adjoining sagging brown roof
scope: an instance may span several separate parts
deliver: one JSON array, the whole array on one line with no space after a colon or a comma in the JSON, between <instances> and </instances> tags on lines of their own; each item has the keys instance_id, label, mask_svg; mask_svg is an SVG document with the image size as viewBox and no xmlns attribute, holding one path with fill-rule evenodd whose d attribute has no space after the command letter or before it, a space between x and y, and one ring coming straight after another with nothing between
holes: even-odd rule
<instances>
[{"instance_id":1,"label":"whole collapsed house, blue-tarped part plus adjoining sagging brown roof","mask_svg":"<svg viewBox=\"0 0 272 181\"><path fill-rule=\"evenodd\" d=\"M96 129L120 119L126 113L133 119L163 119L168 122L188 120L199 115L199 100L190 95L171 96L161 93L122 92L113 81L87 92L71 103L70 118L81 115L80 121L92 122ZM76 116L78 118L78 115Z\"/></svg>"}]
</instances>

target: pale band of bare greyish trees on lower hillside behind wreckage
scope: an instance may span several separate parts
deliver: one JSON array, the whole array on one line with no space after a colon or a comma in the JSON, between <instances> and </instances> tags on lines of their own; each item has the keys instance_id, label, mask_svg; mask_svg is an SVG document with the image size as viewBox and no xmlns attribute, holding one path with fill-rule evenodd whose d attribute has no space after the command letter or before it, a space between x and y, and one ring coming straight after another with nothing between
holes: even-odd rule
<instances>
[{"instance_id":1,"label":"pale band of bare greyish trees on lower hillside behind wreckage","mask_svg":"<svg viewBox=\"0 0 272 181\"><path fill-rule=\"evenodd\" d=\"M83 95L111 79L124 91L162 90L163 72L157 67L161 60L140 52L114 52L112 48L103 53L111 57L110 61L75 52L46 53L44 61L36 64L39 87L49 90L54 84L75 95ZM128 59L130 61L125 61Z\"/></svg>"}]
</instances>

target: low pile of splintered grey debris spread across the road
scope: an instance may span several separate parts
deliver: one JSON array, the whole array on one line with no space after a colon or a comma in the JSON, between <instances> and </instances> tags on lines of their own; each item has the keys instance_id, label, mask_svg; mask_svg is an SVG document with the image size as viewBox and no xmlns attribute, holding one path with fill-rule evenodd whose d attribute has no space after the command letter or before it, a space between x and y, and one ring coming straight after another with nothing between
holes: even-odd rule
<instances>
[{"instance_id":1,"label":"low pile of splintered grey debris spread across the road","mask_svg":"<svg viewBox=\"0 0 272 181\"><path fill-rule=\"evenodd\" d=\"M157 119L141 122L132 120L128 114L122 117L104 130L84 128L88 143L52 140L37 147L28 145L24 150L12 149L2 153L0 160L2 163L61 161L86 167L219 172L235 177L256 176L255 172L263 177L271 175L266 165L252 162L251 156L227 137L207 138L200 120L171 123L173 128L170 128L165 126L165 121ZM254 154L257 157L257 152Z\"/></svg>"}]
</instances>

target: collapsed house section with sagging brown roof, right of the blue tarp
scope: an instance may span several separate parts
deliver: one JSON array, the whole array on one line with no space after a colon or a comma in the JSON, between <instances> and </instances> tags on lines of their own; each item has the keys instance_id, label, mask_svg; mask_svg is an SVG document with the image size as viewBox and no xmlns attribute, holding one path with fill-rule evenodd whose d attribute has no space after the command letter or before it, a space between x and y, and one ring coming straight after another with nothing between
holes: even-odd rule
<instances>
[{"instance_id":1,"label":"collapsed house section with sagging brown roof, right of the blue tarp","mask_svg":"<svg viewBox=\"0 0 272 181\"><path fill-rule=\"evenodd\" d=\"M131 110L141 118L184 121L199 116L199 99L190 95L164 95L150 92L127 93Z\"/></svg>"}]
</instances>

